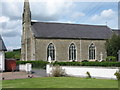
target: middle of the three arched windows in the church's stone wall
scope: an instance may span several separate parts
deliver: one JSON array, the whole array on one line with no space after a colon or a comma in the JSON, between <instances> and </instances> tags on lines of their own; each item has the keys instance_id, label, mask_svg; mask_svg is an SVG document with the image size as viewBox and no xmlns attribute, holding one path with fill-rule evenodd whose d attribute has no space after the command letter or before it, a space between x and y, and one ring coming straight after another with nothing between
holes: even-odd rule
<instances>
[{"instance_id":1,"label":"middle of the three arched windows in the church's stone wall","mask_svg":"<svg viewBox=\"0 0 120 90\"><path fill-rule=\"evenodd\" d=\"M69 47L69 60L76 60L76 48L73 43Z\"/></svg>"}]
</instances>

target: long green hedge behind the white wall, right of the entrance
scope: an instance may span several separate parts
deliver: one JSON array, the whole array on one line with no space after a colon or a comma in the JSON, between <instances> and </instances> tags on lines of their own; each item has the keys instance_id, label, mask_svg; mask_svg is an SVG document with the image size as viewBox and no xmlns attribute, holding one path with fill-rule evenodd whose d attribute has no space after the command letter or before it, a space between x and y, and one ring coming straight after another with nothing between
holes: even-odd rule
<instances>
[{"instance_id":1,"label":"long green hedge behind the white wall, right of the entrance","mask_svg":"<svg viewBox=\"0 0 120 90\"><path fill-rule=\"evenodd\" d=\"M120 62L55 62L53 65L120 67Z\"/></svg>"}]
</instances>

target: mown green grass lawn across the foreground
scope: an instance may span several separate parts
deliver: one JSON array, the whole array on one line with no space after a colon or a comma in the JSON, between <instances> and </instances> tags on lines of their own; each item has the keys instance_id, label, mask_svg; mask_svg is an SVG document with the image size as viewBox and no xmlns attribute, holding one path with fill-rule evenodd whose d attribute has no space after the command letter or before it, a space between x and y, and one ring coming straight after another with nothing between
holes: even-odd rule
<instances>
[{"instance_id":1,"label":"mown green grass lawn across the foreground","mask_svg":"<svg viewBox=\"0 0 120 90\"><path fill-rule=\"evenodd\" d=\"M117 80L79 77L41 77L3 80L3 88L118 88Z\"/></svg>"}]
</instances>

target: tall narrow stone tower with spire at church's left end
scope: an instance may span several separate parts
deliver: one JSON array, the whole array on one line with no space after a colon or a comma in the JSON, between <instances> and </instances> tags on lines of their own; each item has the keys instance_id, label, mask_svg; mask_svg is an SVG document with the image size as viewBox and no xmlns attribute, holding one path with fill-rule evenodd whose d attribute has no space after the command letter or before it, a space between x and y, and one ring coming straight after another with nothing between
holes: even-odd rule
<instances>
[{"instance_id":1,"label":"tall narrow stone tower with spire at church's left end","mask_svg":"<svg viewBox=\"0 0 120 90\"><path fill-rule=\"evenodd\" d=\"M23 17L22 17L22 41L21 41L21 60L27 61L29 59L29 44L31 27L31 11L29 0L24 0Z\"/></svg>"}]
</instances>

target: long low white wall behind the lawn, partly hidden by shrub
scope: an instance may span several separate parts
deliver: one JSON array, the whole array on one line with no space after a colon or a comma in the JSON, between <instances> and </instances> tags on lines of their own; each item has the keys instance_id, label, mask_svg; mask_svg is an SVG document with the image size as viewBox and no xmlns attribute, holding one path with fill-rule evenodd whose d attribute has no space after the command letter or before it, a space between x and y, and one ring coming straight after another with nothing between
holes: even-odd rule
<instances>
[{"instance_id":1,"label":"long low white wall behind the lawn, partly hidden by shrub","mask_svg":"<svg viewBox=\"0 0 120 90\"><path fill-rule=\"evenodd\" d=\"M114 73L119 71L117 67L87 67L87 66L62 66L66 74L75 77L86 77L89 72L93 78L116 79ZM51 74L52 66L47 65L46 73Z\"/></svg>"}]
</instances>

